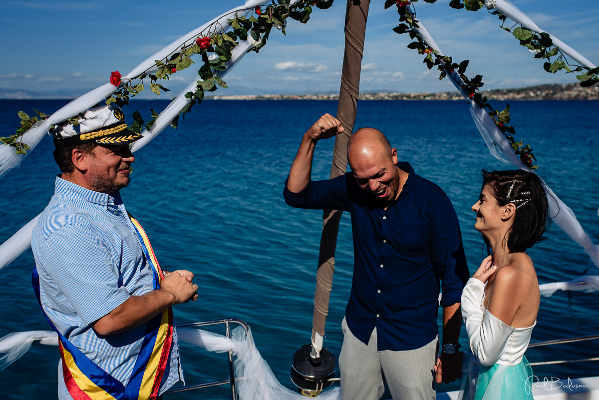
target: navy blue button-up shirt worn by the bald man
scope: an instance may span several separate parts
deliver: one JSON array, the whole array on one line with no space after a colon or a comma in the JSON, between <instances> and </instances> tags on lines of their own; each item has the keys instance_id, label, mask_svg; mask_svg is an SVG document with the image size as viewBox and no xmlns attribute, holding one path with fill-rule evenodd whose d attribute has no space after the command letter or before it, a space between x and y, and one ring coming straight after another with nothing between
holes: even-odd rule
<instances>
[{"instance_id":1,"label":"navy blue button-up shirt worn by the bald man","mask_svg":"<svg viewBox=\"0 0 599 400\"><path fill-rule=\"evenodd\" d=\"M434 340L440 289L440 304L455 304L470 277L451 201L409 163L397 165L409 176L386 210L350 172L310 181L299 193L283 192L292 207L350 212L354 266L347 326L365 344L376 327L378 349L393 351Z\"/></svg>"}]
</instances>

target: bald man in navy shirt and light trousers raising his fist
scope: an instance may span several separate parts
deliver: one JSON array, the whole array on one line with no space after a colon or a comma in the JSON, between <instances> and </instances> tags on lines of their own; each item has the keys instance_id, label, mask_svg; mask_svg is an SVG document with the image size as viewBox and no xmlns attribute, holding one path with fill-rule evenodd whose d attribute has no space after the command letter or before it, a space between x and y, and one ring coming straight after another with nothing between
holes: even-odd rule
<instances>
[{"instance_id":1,"label":"bald man in navy shirt and light trousers raising his fist","mask_svg":"<svg viewBox=\"0 0 599 400\"><path fill-rule=\"evenodd\" d=\"M394 400L434 399L435 383L462 375L459 301L470 274L458 218L443 190L398 162L397 149L377 129L362 128L350 138L350 172L312 181L316 143L341 132L340 121L329 114L305 132L283 192L292 207L352 215L354 267L341 323L341 397L378 400L386 381Z\"/></svg>"}]
</instances>

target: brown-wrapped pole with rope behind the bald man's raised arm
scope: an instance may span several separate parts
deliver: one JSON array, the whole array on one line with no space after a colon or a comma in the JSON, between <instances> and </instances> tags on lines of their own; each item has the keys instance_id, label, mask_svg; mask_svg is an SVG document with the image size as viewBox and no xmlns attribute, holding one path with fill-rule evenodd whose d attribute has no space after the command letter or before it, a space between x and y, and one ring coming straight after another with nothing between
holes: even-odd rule
<instances>
[{"instance_id":1,"label":"brown-wrapped pole with rope behind the bald man's raised arm","mask_svg":"<svg viewBox=\"0 0 599 400\"><path fill-rule=\"evenodd\" d=\"M331 178L338 177L347 171L347 141L353 132L353 124L356 121L362 53L364 51L364 36L369 5L370 0L347 0L345 50L337 106L337 118L341 121L344 132L335 137ZM329 298L335 271L335 248L337 247L337 232L340 220L341 211L325 210L323 212L312 319L312 351L310 355L313 358L320 356L325 335L326 316L328 315Z\"/></svg>"}]
</instances>

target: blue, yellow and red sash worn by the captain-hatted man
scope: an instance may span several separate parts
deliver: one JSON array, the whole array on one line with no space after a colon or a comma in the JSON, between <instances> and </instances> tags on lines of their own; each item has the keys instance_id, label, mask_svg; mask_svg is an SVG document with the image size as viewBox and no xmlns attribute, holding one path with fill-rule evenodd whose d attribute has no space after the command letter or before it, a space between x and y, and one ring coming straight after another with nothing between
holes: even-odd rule
<instances>
[{"instance_id":1,"label":"blue, yellow and red sash worn by the captain-hatted man","mask_svg":"<svg viewBox=\"0 0 599 400\"><path fill-rule=\"evenodd\" d=\"M153 290L156 290L160 287L164 274L146 232L131 214L129 214L129 218L140 240L147 262L152 266ZM35 267L31 281L41 307L40 277ZM170 366L170 353L173 346L173 310L171 307L147 322L146 335L127 386L87 358L81 350L60 334L43 307L42 311L52 329L58 333L65 385L74 400L155 400L158 397L162 377Z\"/></svg>"}]
</instances>

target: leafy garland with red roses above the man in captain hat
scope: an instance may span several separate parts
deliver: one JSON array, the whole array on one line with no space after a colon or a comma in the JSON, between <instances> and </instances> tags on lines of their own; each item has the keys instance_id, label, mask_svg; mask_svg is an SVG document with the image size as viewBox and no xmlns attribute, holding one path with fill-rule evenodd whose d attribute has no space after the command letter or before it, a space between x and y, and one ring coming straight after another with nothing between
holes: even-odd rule
<instances>
[{"instance_id":1,"label":"leafy garland with red roses above the man in captain hat","mask_svg":"<svg viewBox=\"0 0 599 400\"><path fill-rule=\"evenodd\" d=\"M168 80L177 71L189 68L195 63L192 57L195 54L200 54L203 63L198 69L198 75L201 80L198 80L195 92L186 93L185 97L191 99L191 101L171 122L171 126L177 128L179 117L183 116L184 119L184 114L188 113L194 104L201 102L205 92L213 92L217 87L228 87L225 81L220 78L219 71L226 69L226 62L231 60L231 51L238 46L238 40L245 41L250 36L255 42L250 51L258 53L267 43L271 29L280 29L285 35L285 25L288 18L306 23L310 19L313 7L326 9L331 7L332 1L298 0L295 4L290 4L290 0L276 0L271 5L248 9L244 15L235 16L234 19L228 20L231 26L230 30L223 31L222 26L213 25L208 29L207 35L196 38L192 44L181 46L180 49L162 60L156 60L158 71L154 74L150 74L147 70L138 77L123 82L119 71L111 72L110 83L118 86L119 89L109 96L105 103L115 103L119 107L129 104L130 98L137 96L145 89L144 79L146 78L150 80L150 90L156 95L159 95L161 90L162 92L170 92L159 81ZM208 53L211 53L210 56ZM152 109L150 111L152 111L152 119L147 123L144 122L137 110L134 111L132 113L134 122L129 125L129 129L140 133L143 128L152 128L156 118L158 118L158 113ZM23 134L29 131L35 123L49 117L37 110L35 110L35 113L37 113L37 117L29 117L28 114L19 111L20 127L17 128L14 135L6 138L0 137L0 142L14 147L17 154L25 154L29 146L23 143ZM76 117L68 121L77 124Z\"/></svg>"}]
</instances>

